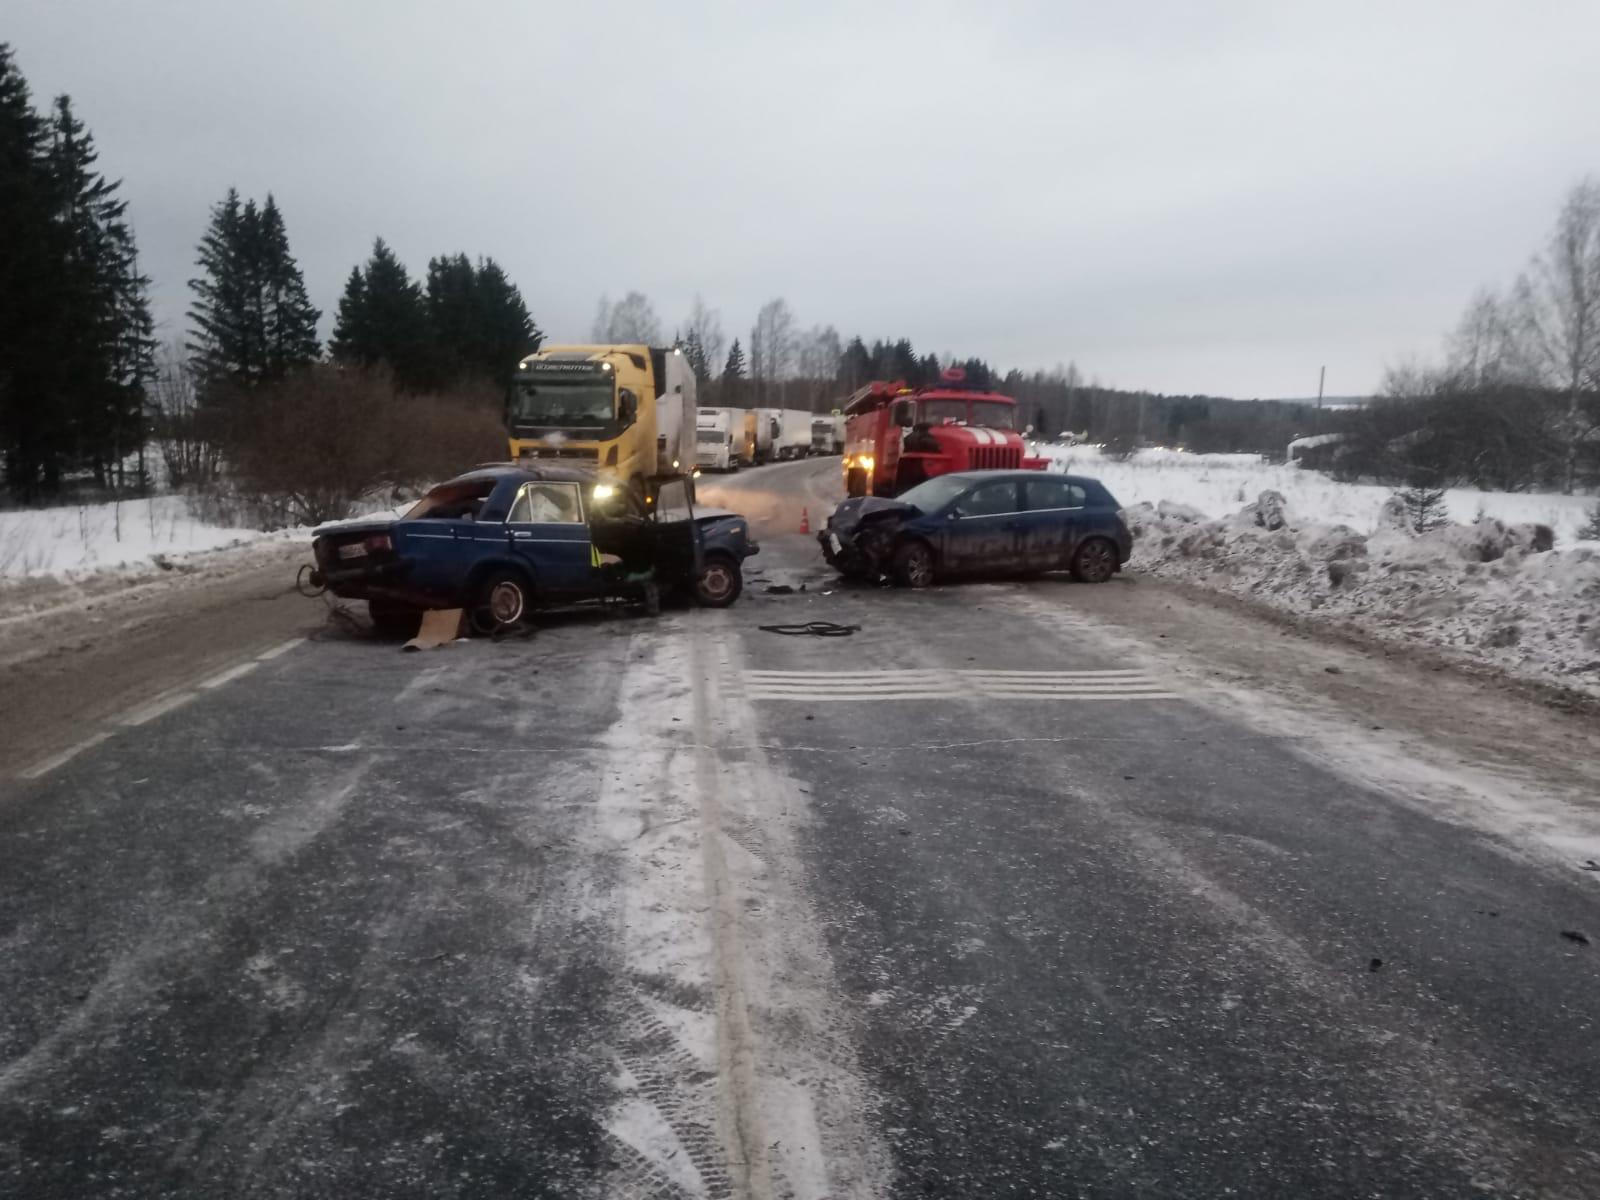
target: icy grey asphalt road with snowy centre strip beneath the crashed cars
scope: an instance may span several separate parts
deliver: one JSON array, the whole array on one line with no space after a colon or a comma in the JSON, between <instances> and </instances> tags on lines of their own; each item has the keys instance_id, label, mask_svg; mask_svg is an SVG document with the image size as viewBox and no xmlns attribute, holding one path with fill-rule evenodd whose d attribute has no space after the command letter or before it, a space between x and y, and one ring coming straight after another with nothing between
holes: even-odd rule
<instances>
[{"instance_id":1,"label":"icy grey asphalt road with snowy centre strip beneath the crashed cars","mask_svg":"<svg viewBox=\"0 0 1600 1200\"><path fill-rule=\"evenodd\" d=\"M0 784L0 1195L1595 1194L1600 878L1083 589L835 587L835 467L722 482L726 613L253 648Z\"/></svg>"}]
</instances>

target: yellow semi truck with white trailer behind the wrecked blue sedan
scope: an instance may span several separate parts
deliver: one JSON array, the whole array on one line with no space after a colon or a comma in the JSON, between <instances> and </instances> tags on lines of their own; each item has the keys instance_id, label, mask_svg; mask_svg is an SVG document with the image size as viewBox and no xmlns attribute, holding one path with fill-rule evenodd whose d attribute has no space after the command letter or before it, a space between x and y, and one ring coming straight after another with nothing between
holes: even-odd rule
<instances>
[{"instance_id":1,"label":"yellow semi truck with white trailer behind the wrecked blue sedan","mask_svg":"<svg viewBox=\"0 0 1600 1200\"><path fill-rule=\"evenodd\" d=\"M517 363L506 424L517 462L566 459L648 494L694 467L694 371L682 350L546 346Z\"/></svg>"}]
</instances>

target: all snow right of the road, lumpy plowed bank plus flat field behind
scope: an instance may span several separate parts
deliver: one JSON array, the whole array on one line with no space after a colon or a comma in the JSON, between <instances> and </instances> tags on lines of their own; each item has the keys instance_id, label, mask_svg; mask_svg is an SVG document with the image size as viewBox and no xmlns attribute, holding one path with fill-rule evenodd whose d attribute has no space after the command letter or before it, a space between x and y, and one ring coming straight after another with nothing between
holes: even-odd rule
<instances>
[{"instance_id":1,"label":"all snow right of the road, lumpy plowed bank plus flat field behind","mask_svg":"<svg viewBox=\"0 0 1600 1200\"><path fill-rule=\"evenodd\" d=\"M1136 571L1600 698L1594 496L1451 491L1456 523L1416 533L1392 488L1250 454L1043 451L1117 496Z\"/></svg>"}]
</instances>

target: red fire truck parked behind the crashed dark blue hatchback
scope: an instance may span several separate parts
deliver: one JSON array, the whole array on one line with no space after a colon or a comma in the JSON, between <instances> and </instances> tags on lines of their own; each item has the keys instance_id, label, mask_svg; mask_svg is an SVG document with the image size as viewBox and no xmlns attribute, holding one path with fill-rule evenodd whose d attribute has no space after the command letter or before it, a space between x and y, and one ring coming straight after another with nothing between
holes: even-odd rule
<instances>
[{"instance_id":1,"label":"red fire truck parked behind the crashed dark blue hatchback","mask_svg":"<svg viewBox=\"0 0 1600 1200\"><path fill-rule=\"evenodd\" d=\"M952 470L1043 470L1026 458L1016 400L965 387L952 366L933 387L874 382L845 402L845 491L899 496Z\"/></svg>"}]
</instances>

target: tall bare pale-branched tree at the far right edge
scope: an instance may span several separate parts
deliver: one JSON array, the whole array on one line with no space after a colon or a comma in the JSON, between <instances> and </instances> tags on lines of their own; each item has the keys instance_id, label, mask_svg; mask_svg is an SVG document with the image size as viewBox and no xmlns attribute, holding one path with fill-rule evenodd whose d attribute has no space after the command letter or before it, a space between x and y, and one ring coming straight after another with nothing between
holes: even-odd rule
<instances>
[{"instance_id":1,"label":"tall bare pale-branched tree at the far right edge","mask_svg":"<svg viewBox=\"0 0 1600 1200\"><path fill-rule=\"evenodd\" d=\"M1584 392L1600 389L1600 182L1566 195L1550 240L1517 280L1522 333L1541 379L1566 395L1565 490L1578 482L1578 448L1592 432Z\"/></svg>"}]
</instances>

